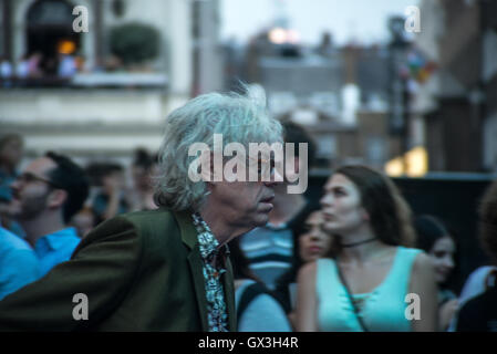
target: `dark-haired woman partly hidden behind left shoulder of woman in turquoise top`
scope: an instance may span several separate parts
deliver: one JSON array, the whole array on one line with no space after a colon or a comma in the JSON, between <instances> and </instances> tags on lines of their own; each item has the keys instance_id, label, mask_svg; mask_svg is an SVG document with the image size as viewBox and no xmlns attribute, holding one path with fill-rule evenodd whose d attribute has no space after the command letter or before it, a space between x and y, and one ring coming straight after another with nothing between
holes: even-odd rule
<instances>
[{"instance_id":1,"label":"dark-haired woman partly hidden behind left shoulder of woman in turquoise top","mask_svg":"<svg viewBox=\"0 0 497 354\"><path fill-rule=\"evenodd\" d=\"M299 269L322 257L330 257L332 237L323 231L323 217L321 210L313 210L298 222L293 232L296 235L293 264L277 281L276 295L282 302L284 311L296 327L297 273Z\"/></svg>"}]
</instances>

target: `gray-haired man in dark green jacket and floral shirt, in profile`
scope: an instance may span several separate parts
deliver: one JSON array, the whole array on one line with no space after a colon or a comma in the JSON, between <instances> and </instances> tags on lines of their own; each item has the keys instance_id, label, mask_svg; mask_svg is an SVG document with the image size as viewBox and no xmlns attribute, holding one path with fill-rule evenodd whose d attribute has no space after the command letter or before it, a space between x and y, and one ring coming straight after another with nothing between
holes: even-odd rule
<instances>
[{"instance_id":1,"label":"gray-haired man in dark green jacket and floral shirt, in profile","mask_svg":"<svg viewBox=\"0 0 497 354\"><path fill-rule=\"evenodd\" d=\"M193 180L198 156L190 146L216 153L215 134L246 148L281 142L280 124L250 90L205 94L170 113L156 178L159 209L97 226L71 260L0 302L0 330L235 331L226 243L266 225L278 176ZM203 166L210 169L204 175L216 168Z\"/></svg>"}]
</instances>

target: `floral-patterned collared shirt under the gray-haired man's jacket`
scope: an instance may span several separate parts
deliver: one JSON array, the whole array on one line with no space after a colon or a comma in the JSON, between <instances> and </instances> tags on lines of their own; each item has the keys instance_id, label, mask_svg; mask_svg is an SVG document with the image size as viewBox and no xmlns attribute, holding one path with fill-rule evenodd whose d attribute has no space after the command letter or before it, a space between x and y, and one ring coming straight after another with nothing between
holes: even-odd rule
<instances>
[{"instance_id":1,"label":"floral-patterned collared shirt under the gray-haired man's jacket","mask_svg":"<svg viewBox=\"0 0 497 354\"><path fill-rule=\"evenodd\" d=\"M209 332L228 332L228 312L225 291L220 277L226 272L224 257L228 247L219 248L219 241L210 232L207 223L194 215L194 225L198 231L198 243L203 259L203 273L207 300L207 321Z\"/></svg>"}]
</instances>

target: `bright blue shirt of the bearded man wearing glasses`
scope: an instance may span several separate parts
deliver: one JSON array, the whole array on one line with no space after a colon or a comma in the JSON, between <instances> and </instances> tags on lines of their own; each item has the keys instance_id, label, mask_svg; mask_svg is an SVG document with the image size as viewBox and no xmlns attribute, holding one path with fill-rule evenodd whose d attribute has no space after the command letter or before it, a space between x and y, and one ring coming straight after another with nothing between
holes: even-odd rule
<instances>
[{"instance_id":1,"label":"bright blue shirt of the bearded man wearing glasses","mask_svg":"<svg viewBox=\"0 0 497 354\"><path fill-rule=\"evenodd\" d=\"M41 274L46 274L53 267L68 261L80 243L75 228L65 228L38 239L34 252L40 260Z\"/></svg>"}]
</instances>

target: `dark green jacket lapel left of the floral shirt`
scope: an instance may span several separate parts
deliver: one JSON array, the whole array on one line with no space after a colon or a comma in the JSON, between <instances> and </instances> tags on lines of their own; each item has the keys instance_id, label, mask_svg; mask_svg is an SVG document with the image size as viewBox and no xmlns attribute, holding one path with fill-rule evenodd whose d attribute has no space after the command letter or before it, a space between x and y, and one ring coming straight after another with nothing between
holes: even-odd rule
<instances>
[{"instance_id":1,"label":"dark green jacket lapel left of the floral shirt","mask_svg":"<svg viewBox=\"0 0 497 354\"><path fill-rule=\"evenodd\" d=\"M194 278L195 295L197 298L197 304L200 311L201 329L203 331L208 331L207 299L197 230L195 229L191 216L188 212L174 212L174 215L179 225L182 240L190 249L190 253L188 254L188 264Z\"/></svg>"}]
</instances>

